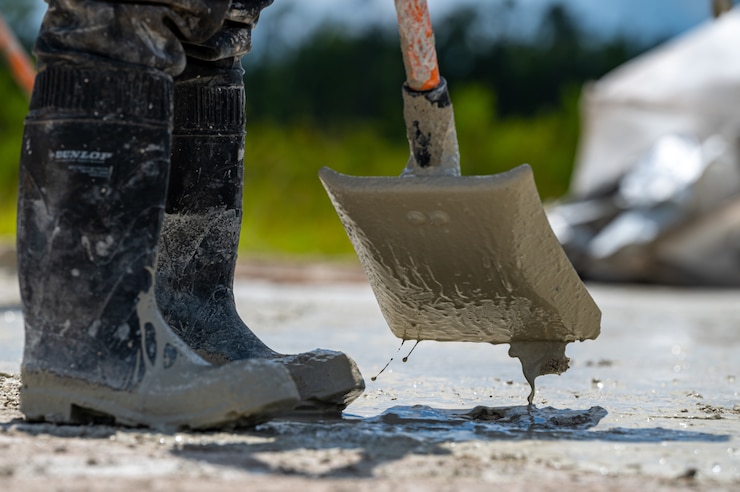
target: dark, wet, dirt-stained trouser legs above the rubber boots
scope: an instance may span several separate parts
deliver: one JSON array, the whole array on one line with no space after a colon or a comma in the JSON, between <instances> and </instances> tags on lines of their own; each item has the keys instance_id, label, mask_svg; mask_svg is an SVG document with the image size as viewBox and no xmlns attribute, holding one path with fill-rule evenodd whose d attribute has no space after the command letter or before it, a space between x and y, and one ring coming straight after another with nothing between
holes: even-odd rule
<instances>
[{"instance_id":1,"label":"dark, wet, dirt-stained trouser legs above the rubber boots","mask_svg":"<svg viewBox=\"0 0 740 492\"><path fill-rule=\"evenodd\" d=\"M36 43L46 56L105 58L177 76L188 57L233 63L273 0L47 0Z\"/></svg>"}]
</instances>

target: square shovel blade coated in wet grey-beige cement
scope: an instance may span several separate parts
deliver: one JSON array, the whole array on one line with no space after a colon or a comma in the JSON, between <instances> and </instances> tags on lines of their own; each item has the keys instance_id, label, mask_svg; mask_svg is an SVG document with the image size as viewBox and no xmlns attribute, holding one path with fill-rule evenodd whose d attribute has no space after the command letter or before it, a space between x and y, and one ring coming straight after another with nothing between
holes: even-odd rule
<instances>
[{"instance_id":1,"label":"square shovel blade coated in wet grey-beige cement","mask_svg":"<svg viewBox=\"0 0 740 492\"><path fill-rule=\"evenodd\" d=\"M320 171L403 340L593 339L601 312L552 232L529 166L463 177Z\"/></svg>"}]
</instances>

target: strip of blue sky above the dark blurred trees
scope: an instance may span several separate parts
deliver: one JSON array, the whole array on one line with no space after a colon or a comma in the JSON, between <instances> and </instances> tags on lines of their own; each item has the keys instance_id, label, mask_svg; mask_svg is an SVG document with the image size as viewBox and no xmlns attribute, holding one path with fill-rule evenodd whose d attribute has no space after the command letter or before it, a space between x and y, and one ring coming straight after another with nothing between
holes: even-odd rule
<instances>
[{"instance_id":1,"label":"strip of blue sky above the dark blurred trees","mask_svg":"<svg viewBox=\"0 0 740 492\"><path fill-rule=\"evenodd\" d=\"M432 21L461 6L482 9L479 19L488 34L526 37L536 33L542 14L555 3L565 5L579 25L594 38L625 34L634 41L650 44L685 32L711 20L711 0L427 0ZM515 5L507 20L496 17L502 2ZM740 3L740 0L734 0ZM316 26L327 20L338 21L350 28L361 28L378 22L394 26L393 0L275 0L263 12L261 25L254 33L252 59L268 52L279 52L269 39L280 30L280 38L300 42ZM472 26L480 29L481 26ZM503 31L506 31L504 33ZM288 33L286 38L286 33ZM272 38L275 39L275 38ZM272 48L272 49L271 49ZM277 49L277 51L275 51Z\"/></svg>"}]
</instances>

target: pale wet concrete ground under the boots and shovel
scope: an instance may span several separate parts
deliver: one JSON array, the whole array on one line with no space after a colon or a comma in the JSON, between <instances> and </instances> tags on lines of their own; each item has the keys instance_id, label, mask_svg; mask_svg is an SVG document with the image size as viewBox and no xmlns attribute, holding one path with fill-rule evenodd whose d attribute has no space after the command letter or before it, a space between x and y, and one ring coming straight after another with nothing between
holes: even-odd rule
<instances>
[{"instance_id":1,"label":"pale wet concrete ground under the boots and shovel","mask_svg":"<svg viewBox=\"0 0 740 492\"><path fill-rule=\"evenodd\" d=\"M26 423L22 319L0 274L0 490L740 490L740 292L590 285L602 335L539 378L507 346L399 349L356 270L255 265L242 316L275 349L352 355L342 419L160 434ZM376 381L375 376L393 358Z\"/></svg>"}]
</instances>

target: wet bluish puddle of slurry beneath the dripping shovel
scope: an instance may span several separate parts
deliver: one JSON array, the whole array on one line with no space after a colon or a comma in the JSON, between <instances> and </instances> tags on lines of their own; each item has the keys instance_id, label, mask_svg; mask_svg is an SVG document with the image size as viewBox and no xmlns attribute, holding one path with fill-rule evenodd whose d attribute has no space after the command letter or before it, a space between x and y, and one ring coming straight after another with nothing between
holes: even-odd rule
<instances>
[{"instance_id":1,"label":"wet bluish puddle of slurry beneath the dripping shovel","mask_svg":"<svg viewBox=\"0 0 740 492\"><path fill-rule=\"evenodd\" d=\"M596 429L608 415L595 406L585 410L553 407L475 407L440 409L424 405L391 407L372 417L353 417L322 421L321 432L333 433L336 441L361 446L363 436L384 436L389 445L403 438L423 444L465 441L602 441L635 444L727 443L728 434L671 430L662 427ZM315 432L311 420L278 419L258 426L267 434L305 434L307 441Z\"/></svg>"}]
</instances>

